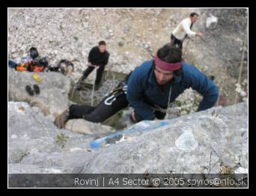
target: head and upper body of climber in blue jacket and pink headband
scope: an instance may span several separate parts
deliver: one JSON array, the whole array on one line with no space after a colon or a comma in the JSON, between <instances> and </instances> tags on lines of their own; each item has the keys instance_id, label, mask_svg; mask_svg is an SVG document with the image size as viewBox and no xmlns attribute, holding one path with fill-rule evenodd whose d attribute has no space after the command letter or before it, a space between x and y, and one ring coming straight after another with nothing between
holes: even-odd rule
<instances>
[{"instance_id":1,"label":"head and upper body of climber in blue jacket and pink headband","mask_svg":"<svg viewBox=\"0 0 256 196\"><path fill-rule=\"evenodd\" d=\"M129 77L127 100L134 109L131 120L164 119L171 102L187 88L204 97L198 111L213 107L218 99L219 89L213 81L183 62L180 48L166 44L153 60L145 61Z\"/></svg>"}]
</instances>

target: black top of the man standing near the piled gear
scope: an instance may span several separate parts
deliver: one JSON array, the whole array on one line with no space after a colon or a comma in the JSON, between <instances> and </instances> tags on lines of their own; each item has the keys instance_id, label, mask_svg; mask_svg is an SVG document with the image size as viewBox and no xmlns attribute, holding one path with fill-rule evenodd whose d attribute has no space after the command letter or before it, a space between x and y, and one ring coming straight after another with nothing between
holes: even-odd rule
<instances>
[{"instance_id":1,"label":"black top of the man standing near the piled gear","mask_svg":"<svg viewBox=\"0 0 256 196\"><path fill-rule=\"evenodd\" d=\"M99 46L94 46L89 52L88 61L93 65L105 66L109 61L109 52L100 52Z\"/></svg>"}]
</instances>

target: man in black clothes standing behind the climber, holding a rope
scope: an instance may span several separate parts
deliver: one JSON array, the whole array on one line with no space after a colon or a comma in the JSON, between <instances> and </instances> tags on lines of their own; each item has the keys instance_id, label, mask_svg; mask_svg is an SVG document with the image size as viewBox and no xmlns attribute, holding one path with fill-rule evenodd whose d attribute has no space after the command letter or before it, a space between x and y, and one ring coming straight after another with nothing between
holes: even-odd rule
<instances>
[{"instance_id":1,"label":"man in black clothes standing behind the climber, holding a rope","mask_svg":"<svg viewBox=\"0 0 256 196\"><path fill-rule=\"evenodd\" d=\"M84 71L82 76L82 81L85 80L89 74L97 68L97 77L95 80L96 88L100 85L103 72L105 70L106 64L109 61L109 52L106 51L106 42L100 41L99 46L94 46L89 52L88 56L88 68Z\"/></svg>"}]
</instances>

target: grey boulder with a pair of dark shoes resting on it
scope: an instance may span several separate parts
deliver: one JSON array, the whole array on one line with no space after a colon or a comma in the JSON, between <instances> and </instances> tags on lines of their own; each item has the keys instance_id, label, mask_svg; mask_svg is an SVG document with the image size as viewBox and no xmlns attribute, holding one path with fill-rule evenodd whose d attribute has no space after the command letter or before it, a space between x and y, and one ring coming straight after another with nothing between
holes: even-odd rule
<instances>
[{"instance_id":1,"label":"grey boulder with a pair of dark shoes resting on it","mask_svg":"<svg viewBox=\"0 0 256 196\"><path fill-rule=\"evenodd\" d=\"M11 101L29 102L37 106L43 114L54 116L61 114L69 105L68 93L71 88L71 80L61 73L37 73L42 78L37 82L33 78L34 73L18 72L8 69L8 95ZM25 86L38 85L40 94L29 95Z\"/></svg>"}]
</instances>

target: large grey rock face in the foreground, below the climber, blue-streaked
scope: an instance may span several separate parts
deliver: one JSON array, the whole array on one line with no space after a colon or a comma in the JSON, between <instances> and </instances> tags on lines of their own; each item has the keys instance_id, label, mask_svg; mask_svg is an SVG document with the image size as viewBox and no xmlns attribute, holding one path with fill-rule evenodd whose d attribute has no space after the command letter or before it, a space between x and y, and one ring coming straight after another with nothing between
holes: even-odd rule
<instances>
[{"instance_id":1,"label":"large grey rock face in the foreground, below the climber, blue-streaked","mask_svg":"<svg viewBox=\"0 0 256 196\"><path fill-rule=\"evenodd\" d=\"M9 102L8 111L10 173L208 174L248 168L246 102L142 121L103 138L57 129L25 102Z\"/></svg>"}]
</instances>

